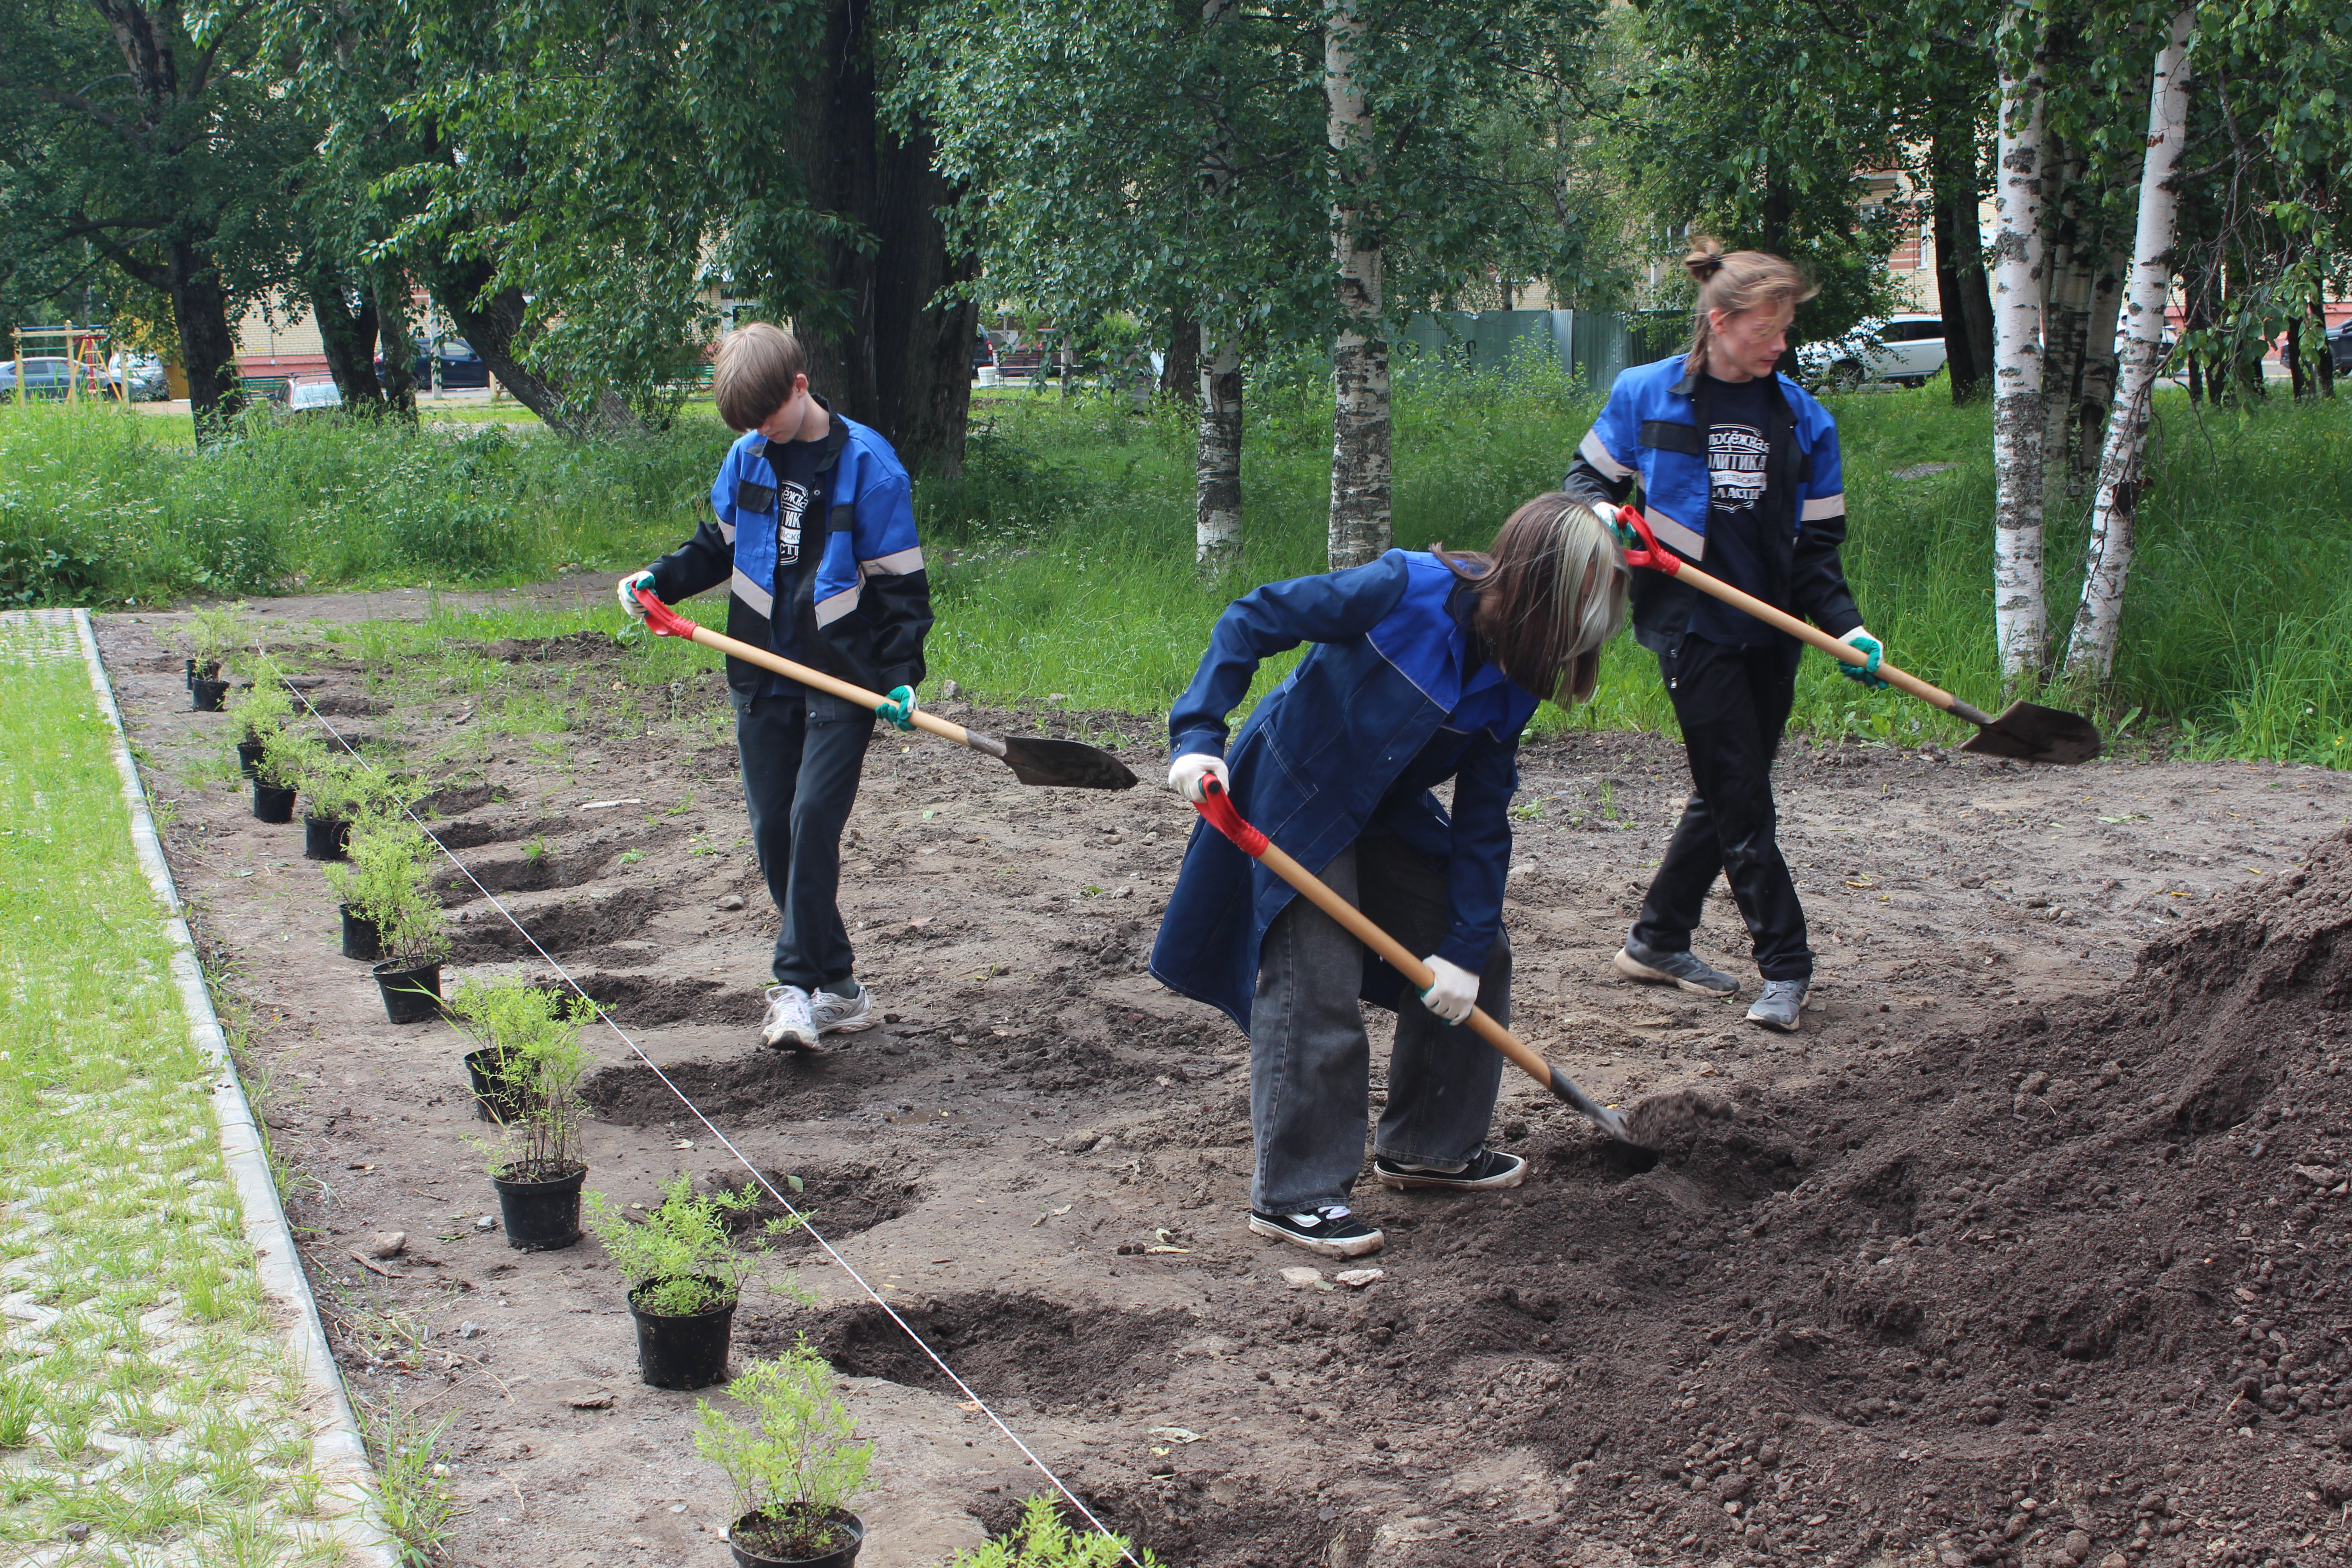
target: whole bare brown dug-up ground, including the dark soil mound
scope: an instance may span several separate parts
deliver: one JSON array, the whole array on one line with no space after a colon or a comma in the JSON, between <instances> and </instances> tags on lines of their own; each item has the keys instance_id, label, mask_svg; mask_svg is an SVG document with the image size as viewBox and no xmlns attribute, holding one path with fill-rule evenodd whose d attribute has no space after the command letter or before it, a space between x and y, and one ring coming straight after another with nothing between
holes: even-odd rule
<instances>
[{"instance_id":1,"label":"whole bare brown dug-up ground, including the dark soil mound","mask_svg":"<svg viewBox=\"0 0 2352 1568\"><path fill-rule=\"evenodd\" d=\"M694 1396L635 1380L597 1248L477 1229L496 1206L461 1037L383 1023L299 825L179 783L230 736L186 712L160 630L108 618L101 646L151 788L176 797L200 938L252 1011L346 1373L452 1418L454 1561L724 1561ZM447 842L1169 1563L2352 1561L2343 776L1797 748L1783 844L1820 983L1783 1039L1606 971L1679 750L1531 748L1522 1034L1604 1098L1703 1091L1733 1114L1656 1161L1512 1074L1496 1133L1534 1159L1524 1190L1367 1178L1383 1276L1289 1288L1279 1269L1312 1260L1242 1229L1247 1041L1143 973L1181 802L1023 790L880 738L842 907L889 1025L764 1053L774 914L731 752L696 719L715 679L680 708L604 691L628 654L590 637L503 651L517 684L609 703L555 755L501 743L452 776ZM365 703L353 722L419 759L459 717L423 684L320 672L313 701ZM1162 764L1148 717L948 712ZM456 964L543 973L470 889L447 898ZM1722 889L1700 950L1752 976ZM590 1187L741 1182L619 1039L590 1046ZM390 1276L353 1258L383 1229L409 1237ZM1011 1446L821 1253L788 1258L818 1305L748 1300L736 1345L807 1333L854 1389L882 1455L861 1561L936 1563L1002 1526L1040 1490Z\"/></svg>"}]
</instances>

